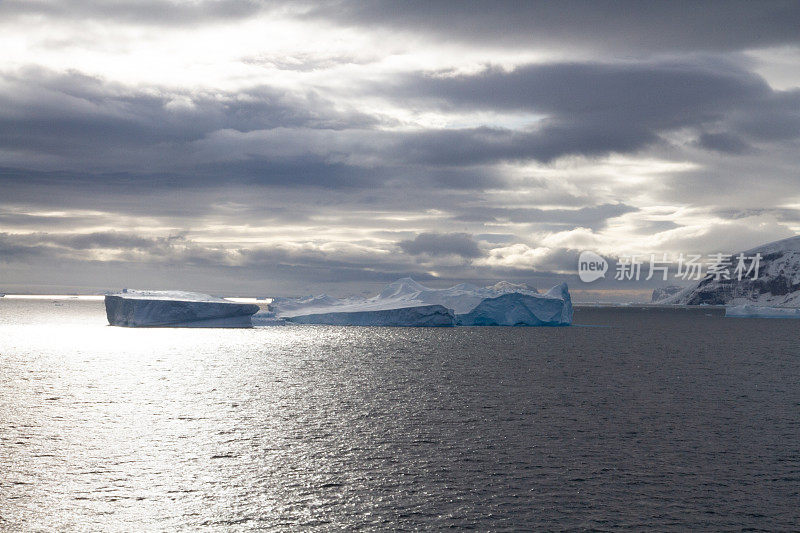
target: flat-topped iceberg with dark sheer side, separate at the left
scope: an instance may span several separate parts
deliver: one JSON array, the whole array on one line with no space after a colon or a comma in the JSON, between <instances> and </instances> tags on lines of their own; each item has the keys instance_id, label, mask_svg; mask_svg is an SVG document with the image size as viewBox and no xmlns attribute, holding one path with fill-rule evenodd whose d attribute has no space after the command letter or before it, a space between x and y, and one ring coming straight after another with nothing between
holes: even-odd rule
<instances>
[{"instance_id":1,"label":"flat-topped iceberg with dark sheer side, separate at the left","mask_svg":"<svg viewBox=\"0 0 800 533\"><path fill-rule=\"evenodd\" d=\"M255 304L231 302L196 292L130 291L105 297L106 317L112 326L249 328Z\"/></svg>"}]
</instances>

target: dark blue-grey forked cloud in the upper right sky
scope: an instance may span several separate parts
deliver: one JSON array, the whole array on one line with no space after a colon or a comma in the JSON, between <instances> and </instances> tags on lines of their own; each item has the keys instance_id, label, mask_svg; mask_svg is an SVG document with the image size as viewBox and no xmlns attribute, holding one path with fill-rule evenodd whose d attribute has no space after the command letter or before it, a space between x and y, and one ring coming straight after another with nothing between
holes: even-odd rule
<instances>
[{"instance_id":1,"label":"dark blue-grey forked cloud in the upper right sky","mask_svg":"<svg viewBox=\"0 0 800 533\"><path fill-rule=\"evenodd\" d=\"M407 76L397 97L442 110L507 110L542 115L523 130L427 131L402 148L429 164L496 160L549 161L568 154L630 153L684 128L723 128L700 145L744 150L739 136L761 140L800 135L800 96L772 90L727 61L559 63L511 72ZM731 131L724 131L724 129Z\"/></svg>"}]
</instances>

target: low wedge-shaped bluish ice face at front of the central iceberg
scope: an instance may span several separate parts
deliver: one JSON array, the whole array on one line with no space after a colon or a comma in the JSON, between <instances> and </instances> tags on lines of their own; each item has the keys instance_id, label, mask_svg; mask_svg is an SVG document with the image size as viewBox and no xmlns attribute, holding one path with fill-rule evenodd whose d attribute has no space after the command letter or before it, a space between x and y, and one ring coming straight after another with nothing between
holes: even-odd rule
<instances>
[{"instance_id":1,"label":"low wedge-shaped bluish ice face at front of the central iceberg","mask_svg":"<svg viewBox=\"0 0 800 533\"><path fill-rule=\"evenodd\" d=\"M398 309L339 311L301 315L286 319L293 324L329 326L447 327L455 325L453 311L442 305L422 305Z\"/></svg>"}]
</instances>

